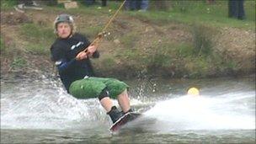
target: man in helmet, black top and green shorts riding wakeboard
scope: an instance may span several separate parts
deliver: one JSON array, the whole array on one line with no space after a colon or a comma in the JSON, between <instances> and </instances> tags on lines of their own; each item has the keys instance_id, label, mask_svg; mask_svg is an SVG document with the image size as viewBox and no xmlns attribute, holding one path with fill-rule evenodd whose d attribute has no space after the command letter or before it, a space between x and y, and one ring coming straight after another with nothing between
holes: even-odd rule
<instances>
[{"instance_id":1,"label":"man in helmet, black top and green shorts riding wakeboard","mask_svg":"<svg viewBox=\"0 0 256 144\"><path fill-rule=\"evenodd\" d=\"M131 112L126 83L115 78L93 77L90 58L99 58L97 45L91 45L85 36L76 33L72 16L57 16L54 29L57 38L51 45L51 59L67 93L77 99L98 98L113 123ZM113 105L111 99L118 100L122 111Z\"/></svg>"}]
</instances>

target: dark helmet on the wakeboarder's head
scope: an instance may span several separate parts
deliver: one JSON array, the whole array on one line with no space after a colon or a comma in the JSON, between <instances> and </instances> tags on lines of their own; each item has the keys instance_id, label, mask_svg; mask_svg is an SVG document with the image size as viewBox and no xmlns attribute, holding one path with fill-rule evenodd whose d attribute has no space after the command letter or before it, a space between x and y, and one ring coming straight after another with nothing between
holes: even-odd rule
<instances>
[{"instance_id":1,"label":"dark helmet on the wakeboarder's head","mask_svg":"<svg viewBox=\"0 0 256 144\"><path fill-rule=\"evenodd\" d=\"M75 29L75 24L74 24L74 19L72 18L71 15L69 14L60 14L57 16L57 18L54 21L54 31L56 33L57 31L57 24L61 23L61 22L67 22L68 24L70 24L72 31Z\"/></svg>"}]
</instances>

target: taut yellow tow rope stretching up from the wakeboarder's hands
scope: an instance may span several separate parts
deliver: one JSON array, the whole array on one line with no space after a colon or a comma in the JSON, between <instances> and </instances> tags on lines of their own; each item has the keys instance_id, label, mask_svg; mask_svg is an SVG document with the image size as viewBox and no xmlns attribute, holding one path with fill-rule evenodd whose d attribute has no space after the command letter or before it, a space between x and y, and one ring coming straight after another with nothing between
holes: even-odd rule
<instances>
[{"instance_id":1,"label":"taut yellow tow rope stretching up from the wakeboarder's hands","mask_svg":"<svg viewBox=\"0 0 256 144\"><path fill-rule=\"evenodd\" d=\"M93 42L91 43L91 45L96 45L99 44L99 41L102 39L105 30L108 29L109 25L112 23L112 21L115 19L116 15L120 12L120 9L123 8L123 6L125 5L126 0L124 0L124 2L120 5L120 8L118 8L115 12L115 14L109 19L109 22L104 26L104 29L102 29L102 31L97 35L97 37L93 40ZM88 47L84 50L87 51Z\"/></svg>"}]
</instances>

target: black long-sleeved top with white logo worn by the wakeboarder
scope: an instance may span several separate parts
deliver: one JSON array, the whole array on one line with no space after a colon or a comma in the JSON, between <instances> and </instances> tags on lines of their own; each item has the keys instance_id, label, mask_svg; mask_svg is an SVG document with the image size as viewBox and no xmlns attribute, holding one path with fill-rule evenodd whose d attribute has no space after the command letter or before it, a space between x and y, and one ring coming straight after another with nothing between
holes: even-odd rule
<instances>
[{"instance_id":1,"label":"black long-sleeved top with white logo worn by the wakeboarder","mask_svg":"<svg viewBox=\"0 0 256 144\"><path fill-rule=\"evenodd\" d=\"M56 67L61 77L61 82L68 89L72 82L85 76L93 76L93 67L89 58L77 61L75 58L80 51L90 45L86 37L74 34L67 39L57 38L51 45L51 59L56 62ZM93 53L93 58L98 58L99 52Z\"/></svg>"}]
</instances>

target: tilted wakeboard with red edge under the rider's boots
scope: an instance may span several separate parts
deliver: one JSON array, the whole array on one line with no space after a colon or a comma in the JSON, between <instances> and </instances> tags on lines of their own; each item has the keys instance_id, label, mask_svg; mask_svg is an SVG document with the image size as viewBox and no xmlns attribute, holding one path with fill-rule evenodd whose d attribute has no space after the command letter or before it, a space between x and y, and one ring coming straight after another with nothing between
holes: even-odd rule
<instances>
[{"instance_id":1,"label":"tilted wakeboard with red edge under the rider's boots","mask_svg":"<svg viewBox=\"0 0 256 144\"><path fill-rule=\"evenodd\" d=\"M125 115L123 115L122 117L120 117L119 120L115 121L115 123L113 125L111 125L109 130L111 132L119 131L124 125L126 125L127 123L129 123L133 120L136 120L140 116L141 116L141 113L128 112Z\"/></svg>"}]
</instances>

